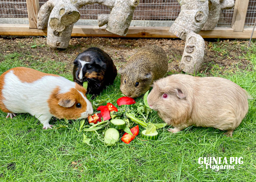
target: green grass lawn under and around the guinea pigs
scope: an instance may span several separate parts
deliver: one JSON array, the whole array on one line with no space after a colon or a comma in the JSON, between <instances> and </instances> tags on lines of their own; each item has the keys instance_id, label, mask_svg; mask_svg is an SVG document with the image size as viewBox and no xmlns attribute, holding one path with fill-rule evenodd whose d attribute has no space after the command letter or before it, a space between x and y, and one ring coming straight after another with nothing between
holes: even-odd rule
<instances>
[{"instance_id":1,"label":"green grass lawn under and around the guinea pigs","mask_svg":"<svg viewBox=\"0 0 256 182\"><path fill-rule=\"evenodd\" d=\"M32 44L25 45L28 51L19 51L24 45L17 44L15 50L12 46L6 46L4 50L3 44L0 51L0 74L13 67L25 66L72 80L72 68L68 65L74 58L71 56L69 63L56 59L59 58L58 54L65 54L65 51L45 46L42 49L47 48L56 56L55 59L51 59L51 56L41 59L29 52L30 49L35 50L30 48ZM208 42L207 45L207 51L214 58L207 57L204 69L197 76L227 78L255 98L256 44L253 43L249 49L246 47L248 42L217 41ZM40 54L41 47L36 49ZM72 52L72 49L75 47L70 46L67 51ZM240 53L234 53L236 50L240 50ZM211 62L215 58L227 61L236 59L238 63L222 66ZM244 60L246 66L241 66L240 60ZM179 72L170 71L168 74ZM110 98L117 106L116 100L121 97L119 86L120 77L117 76L114 85L105 89L97 99ZM136 99L136 102L143 102L142 98ZM75 130L75 127L79 128L78 121L69 122L68 128L42 130L42 124L29 114L18 114L14 119L6 119L6 113L1 111L0 181L255 181L255 113L256 100L249 100L249 112L234 131L233 138L226 137L223 131L215 128L189 127L170 134L166 127L158 130L160 136L157 141L141 141L136 138L129 145L120 140L116 146L106 147L98 141L96 135L86 133L87 137L92 138L94 148L91 148L82 143L82 132ZM156 112L150 115L148 121L163 122ZM54 118L50 124L66 125L64 120ZM243 164L239 166L241 168L236 165L235 169L217 172L199 168L199 157L243 157Z\"/></svg>"}]
</instances>

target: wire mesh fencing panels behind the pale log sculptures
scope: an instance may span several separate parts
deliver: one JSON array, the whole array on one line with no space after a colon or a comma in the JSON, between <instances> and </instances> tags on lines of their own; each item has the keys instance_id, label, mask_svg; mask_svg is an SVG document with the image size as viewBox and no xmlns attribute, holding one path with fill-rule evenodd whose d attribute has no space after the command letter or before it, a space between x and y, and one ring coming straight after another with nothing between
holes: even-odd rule
<instances>
[{"instance_id":1,"label":"wire mesh fencing panels behind the pale log sculptures","mask_svg":"<svg viewBox=\"0 0 256 182\"><path fill-rule=\"evenodd\" d=\"M47 0L39 0L40 7ZM1 0L0 23L28 24L26 0ZM79 9L77 25L98 25L98 14L108 14L110 9L99 4L84 5ZM221 11L218 27L230 27L233 9ZM177 0L140 0L133 14L131 26L169 27L180 13ZM245 26L253 26L256 18L256 0L249 0Z\"/></svg>"}]
</instances>

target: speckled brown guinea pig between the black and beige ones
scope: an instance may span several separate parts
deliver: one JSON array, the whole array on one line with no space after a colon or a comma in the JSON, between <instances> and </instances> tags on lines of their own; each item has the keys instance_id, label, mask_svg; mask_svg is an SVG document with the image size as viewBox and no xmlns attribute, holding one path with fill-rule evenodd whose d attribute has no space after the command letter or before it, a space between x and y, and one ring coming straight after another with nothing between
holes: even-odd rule
<instances>
[{"instance_id":1,"label":"speckled brown guinea pig between the black and beige ones","mask_svg":"<svg viewBox=\"0 0 256 182\"><path fill-rule=\"evenodd\" d=\"M165 51L158 46L146 46L129 58L120 68L120 90L128 97L136 98L145 94L154 80L162 78L168 71Z\"/></svg>"}]
</instances>

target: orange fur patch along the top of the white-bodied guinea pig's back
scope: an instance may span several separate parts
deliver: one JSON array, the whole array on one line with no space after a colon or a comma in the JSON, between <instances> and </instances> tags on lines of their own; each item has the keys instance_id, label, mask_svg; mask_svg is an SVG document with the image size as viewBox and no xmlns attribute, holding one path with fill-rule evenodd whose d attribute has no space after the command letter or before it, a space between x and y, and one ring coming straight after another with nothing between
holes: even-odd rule
<instances>
[{"instance_id":1,"label":"orange fur patch along the top of the white-bodied guinea pig's back","mask_svg":"<svg viewBox=\"0 0 256 182\"><path fill-rule=\"evenodd\" d=\"M14 71L14 75L16 75L21 82L28 82L28 83L32 83L36 80L39 80L43 76L58 76L58 75L43 73L41 71L37 71L32 68L26 68L26 67L16 67L16 68L12 68L11 70ZM8 71L11 71L11 70L8 70Z\"/></svg>"}]
</instances>

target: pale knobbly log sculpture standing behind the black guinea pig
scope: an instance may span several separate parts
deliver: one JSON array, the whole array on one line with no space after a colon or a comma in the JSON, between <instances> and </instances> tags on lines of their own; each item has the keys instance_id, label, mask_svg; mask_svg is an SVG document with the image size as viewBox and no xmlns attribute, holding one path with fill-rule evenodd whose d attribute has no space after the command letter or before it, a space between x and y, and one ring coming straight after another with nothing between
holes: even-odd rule
<instances>
[{"instance_id":1,"label":"pale knobbly log sculpture standing behind the black guinea pig","mask_svg":"<svg viewBox=\"0 0 256 182\"><path fill-rule=\"evenodd\" d=\"M106 5L110 14L98 15L98 24L107 24L106 30L125 36L139 0L49 0L38 12L37 28L47 29L47 44L67 48L74 23L79 20L78 9L86 4Z\"/></svg>"}]
</instances>

